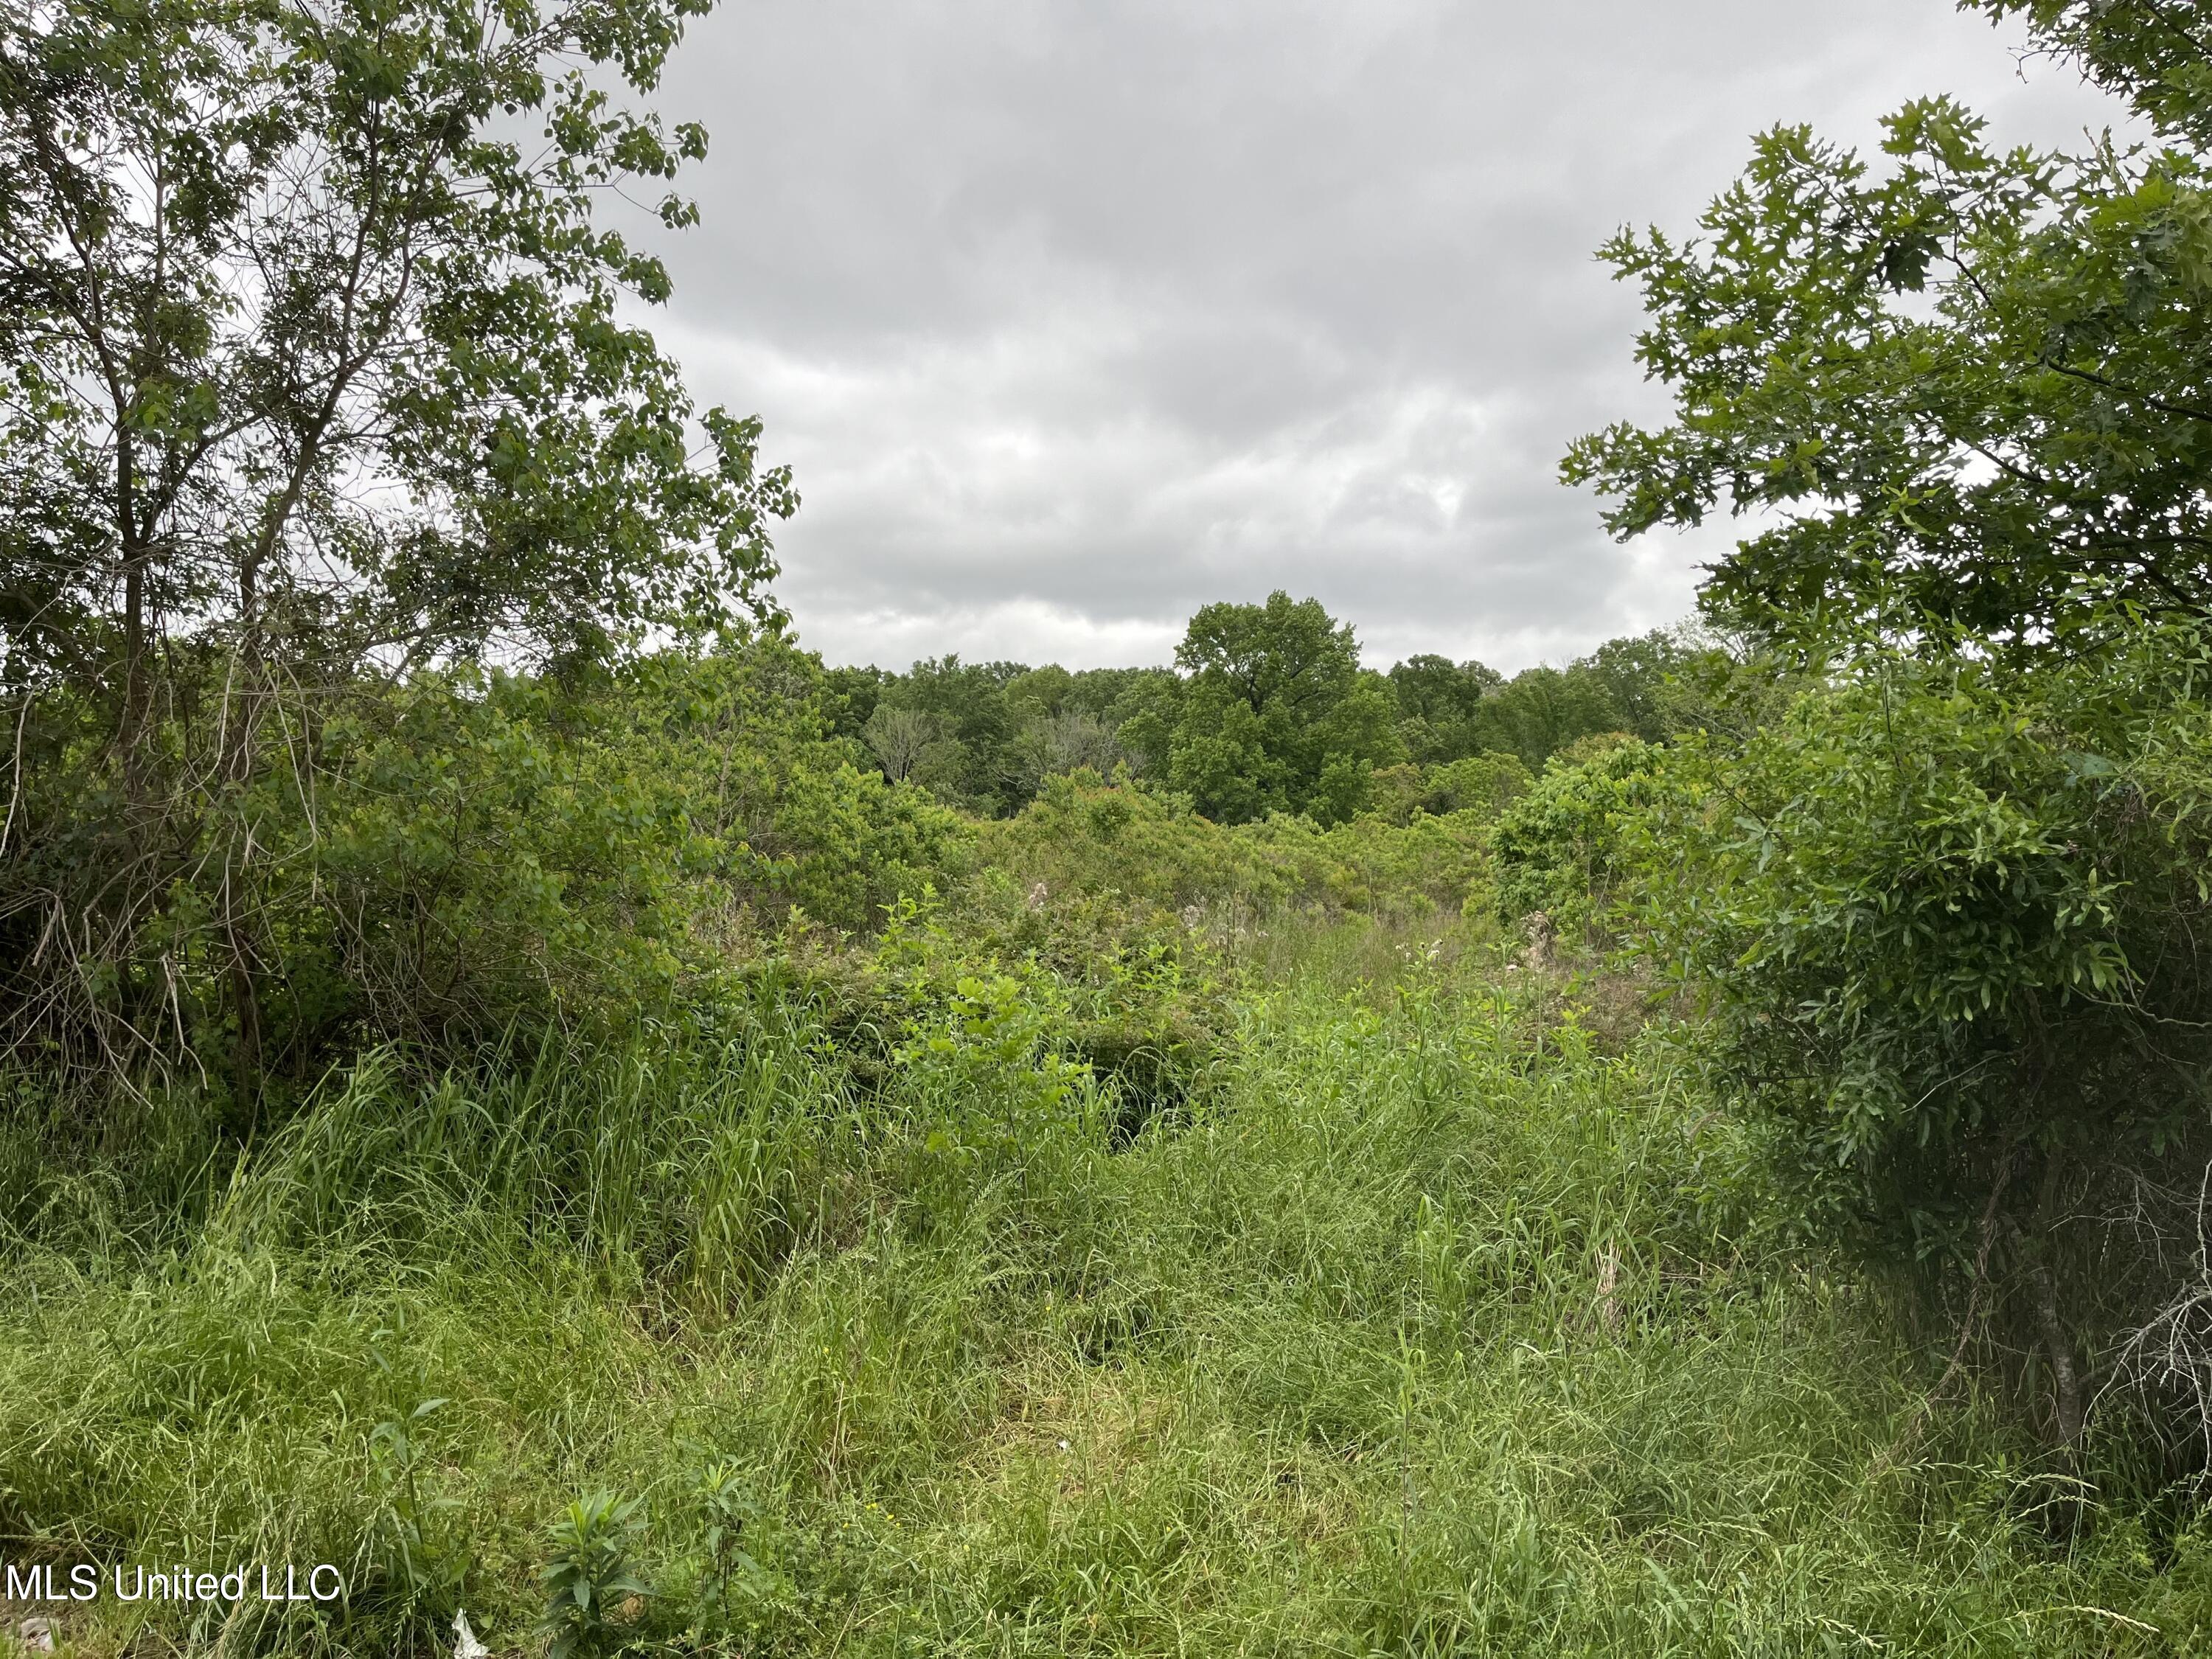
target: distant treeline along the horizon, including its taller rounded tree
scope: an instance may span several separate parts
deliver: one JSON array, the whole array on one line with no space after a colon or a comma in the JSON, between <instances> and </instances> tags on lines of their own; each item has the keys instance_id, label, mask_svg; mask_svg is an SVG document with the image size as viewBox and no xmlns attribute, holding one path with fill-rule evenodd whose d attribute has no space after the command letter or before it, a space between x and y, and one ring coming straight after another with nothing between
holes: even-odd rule
<instances>
[{"instance_id":1,"label":"distant treeline along the horizon, including its taller rounded tree","mask_svg":"<svg viewBox=\"0 0 2212 1659\"><path fill-rule=\"evenodd\" d=\"M1409 805L1449 812L1458 794L1491 794L1502 774L1537 772L1588 737L1661 741L1690 719L1694 670L1725 661L1712 644L1657 630L1511 679L1433 655L1380 672L1360 666L1352 626L1318 599L1274 593L1199 611L1175 668L947 655L902 675L832 668L827 679L838 734L865 743L885 779L969 812L1009 816L1057 772L1128 768L1223 823L1270 812L1343 823Z\"/></svg>"}]
</instances>

